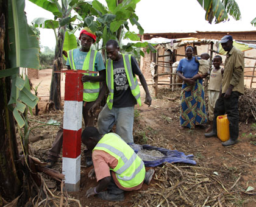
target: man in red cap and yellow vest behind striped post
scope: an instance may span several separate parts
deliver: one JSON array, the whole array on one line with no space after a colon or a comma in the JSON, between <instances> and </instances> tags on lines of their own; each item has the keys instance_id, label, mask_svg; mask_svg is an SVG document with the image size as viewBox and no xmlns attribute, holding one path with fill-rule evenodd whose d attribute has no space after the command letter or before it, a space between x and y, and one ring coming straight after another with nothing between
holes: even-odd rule
<instances>
[{"instance_id":1,"label":"man in red cap and yellow vest behind striped post","mask_svg":"<svg viewBox=\"0 0 256 207\"><path fill-rule=\"evenodd\" d=\"M79 35L80 46L79 48L68 51L68 60L66 66L68 69L82 69L89 71L99 72L98 74L85 74L82 77L84 83L83 95L83 118L85 127L94 126L94 114L88 116L88 110L95 104L99 105L104 97L105 89L100 90L100 83L105 81L105 65L100 52L91 49L91 44L95 43L96 35L91 32L88 27L81 30ZM60 127L57 132L52 148L48 152L48 167L52 167L58 160L60 150L62 149L63 142L63 128ZM86 153L86 164L91 166L91 152Z\"/></svg>"}]
</instances>

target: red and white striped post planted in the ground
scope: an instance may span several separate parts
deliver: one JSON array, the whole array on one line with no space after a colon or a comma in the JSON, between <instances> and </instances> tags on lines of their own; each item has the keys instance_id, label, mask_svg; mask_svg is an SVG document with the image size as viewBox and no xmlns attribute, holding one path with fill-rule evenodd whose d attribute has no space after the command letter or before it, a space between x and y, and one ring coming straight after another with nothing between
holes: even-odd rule
<instances>
[{"instance_id":1,"label":"red and white striped post planted in the ground","mask_svg":"<svg viewBox=\"0 0 256 207\"><path fill-rule=\"evenodd\" d=\"M63 153L62 173L65 175L66 191L79 191L81 133L83 108L83 74L66 72L64 115L63 115Z\"/></svg>"}]
</instances>

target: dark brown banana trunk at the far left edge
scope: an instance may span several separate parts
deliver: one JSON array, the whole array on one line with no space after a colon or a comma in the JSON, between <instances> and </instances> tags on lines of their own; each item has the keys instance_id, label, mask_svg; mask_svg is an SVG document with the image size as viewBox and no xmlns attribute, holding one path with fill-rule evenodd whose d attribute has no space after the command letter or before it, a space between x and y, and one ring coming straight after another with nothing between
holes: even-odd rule
<instances>
[{"instance_id":1,"label":"dark brown banana trunk at the far left edge","mask_svg":"<svg viewBox=\"0 0 256 207\"><path fill-rule=\"evenodd\" d=\"M7 11L8 1L0 0L0 70L5 69L7 51ZM8 63L6 63L8 64ZM13 114L7 108L10 99L10 77L0 80L0 206L2 198L11 201L21 193L21 177L18 166L18 148Z\"/></svg>"}]
</instances>

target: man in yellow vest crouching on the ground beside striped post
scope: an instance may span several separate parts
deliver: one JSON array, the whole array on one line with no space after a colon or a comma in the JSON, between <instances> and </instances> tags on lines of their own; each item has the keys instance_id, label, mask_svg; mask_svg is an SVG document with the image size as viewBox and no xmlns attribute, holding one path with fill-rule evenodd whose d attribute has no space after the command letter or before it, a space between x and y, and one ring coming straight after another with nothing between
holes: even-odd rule
<instances>
[{"instance_id":1,"label":"man in yellow vest crouching on the ground beside striped post","mask_svg":"<svg viewBox=\"0 0 256 207\"><path fill-rule=\"evenodd\" d=\"M154 169L146 172L143 161L115 133L99 135L97 128L87 127L82 142L93 150L93 166L88 176L96 177L98 186L88 189L86 196L96 195L103 200L124 200L124 191L134 191L143 183L150 184ZM107 189L107 191L104 191Z\"/></svg>"}]
</instances>

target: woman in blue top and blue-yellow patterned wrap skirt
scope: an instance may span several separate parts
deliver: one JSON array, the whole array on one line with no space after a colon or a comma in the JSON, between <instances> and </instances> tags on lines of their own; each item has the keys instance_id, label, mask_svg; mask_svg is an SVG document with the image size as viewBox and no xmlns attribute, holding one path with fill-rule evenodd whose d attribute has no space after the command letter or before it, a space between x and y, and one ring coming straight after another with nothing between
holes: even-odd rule
<instances>
[{"instance_id":1,"label":"woman in blue top and blue-yellow patterned wrap skirt","mask_svg":"<svg viewBox=\"0 0 256 207\"><path fill-rule=\"evenodd\" d=\"M182 128L195 128L207 122L205 111L204 86L198 72L199 63L196 63L193 57L194 49L191 46L186 47L186 58L180 60L177 68L177 74L183 80L182 93L180 96L180 126ZM194 75L194 79L192 77ZM206 77L208 74L204 74ZM193 85L191 91L188 88Z\"/></svg>"}]
</instances>

